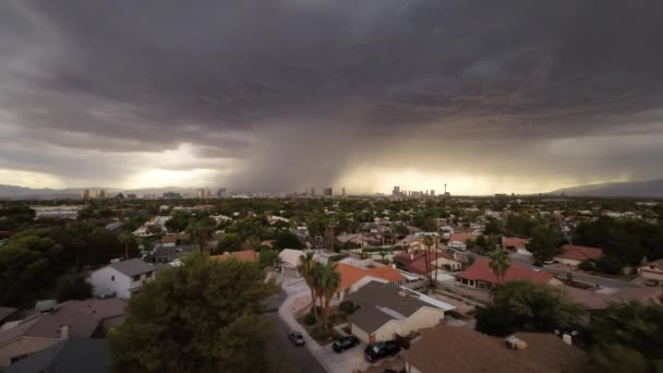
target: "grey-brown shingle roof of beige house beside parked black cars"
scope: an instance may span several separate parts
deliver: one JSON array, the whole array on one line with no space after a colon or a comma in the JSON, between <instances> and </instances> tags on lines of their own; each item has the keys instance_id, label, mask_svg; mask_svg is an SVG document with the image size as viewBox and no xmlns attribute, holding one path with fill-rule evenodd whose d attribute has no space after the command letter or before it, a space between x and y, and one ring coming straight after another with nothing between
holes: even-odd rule
<instances>
[{"instance_id":1,"label":"grey-brown shingle roof of beige house beside parked black cars","mask_svg":"<svg viewBox=\"0 0 663 373\"><path fill-rule=\"evenodd\" d=\"M348 297L348 300L360 306L348 318L371 334L390 320L409 317L422 306L431 306L418 298L408 294L401 297L399 292L398 287L378 281L364 285Z\"/></svg>"}]
</instances>

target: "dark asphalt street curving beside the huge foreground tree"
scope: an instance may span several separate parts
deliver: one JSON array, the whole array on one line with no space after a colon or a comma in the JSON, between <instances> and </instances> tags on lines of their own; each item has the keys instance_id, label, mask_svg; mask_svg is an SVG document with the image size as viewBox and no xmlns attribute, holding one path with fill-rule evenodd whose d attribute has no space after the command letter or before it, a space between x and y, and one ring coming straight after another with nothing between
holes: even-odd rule
<instances>
[{"instance_id":1,"label":"dark asphalt street curving beside the huge foreground tree","mask_svg":"<svg viewBox=\"0 0 663 373\"><path fill-rule=\"evenodd\" d=\"M286 300L286 292L272 297L268 300L269 308L280 305ZM289 327L279 317L278 312L270 312L266 317L274 323L275 335L273 344L269 346L270 353L278 357L279 361L284 361L286 365L296 368L299 372L308 373L324 373L325 369L317 362L305 347L296 347L288 339Z\"/></svg>"}]
</instances>

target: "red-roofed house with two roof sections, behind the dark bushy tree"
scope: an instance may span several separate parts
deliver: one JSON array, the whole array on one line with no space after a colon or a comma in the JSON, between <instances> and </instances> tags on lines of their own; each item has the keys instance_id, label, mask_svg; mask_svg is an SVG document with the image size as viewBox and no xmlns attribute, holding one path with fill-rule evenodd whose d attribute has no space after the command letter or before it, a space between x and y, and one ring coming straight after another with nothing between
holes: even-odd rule
<instances>
[{"instance_id":1,"label":"red-roofed house with two roof sections, behind the dark bushy tree","mask_svg":"<svg viewBox=\"0 0 663 373\"><path fill-rule=\"evenodd\" d=\"M544 272L535 272L517 263L511 263L504 276L505 281L528 280L534 284L562 285L562 281L553 275ZM456 285L471 288L491 288L498 285L497 277L489 267L485 258L477 260L466 270L456 275Z\"/></svg>"}]
</instances>

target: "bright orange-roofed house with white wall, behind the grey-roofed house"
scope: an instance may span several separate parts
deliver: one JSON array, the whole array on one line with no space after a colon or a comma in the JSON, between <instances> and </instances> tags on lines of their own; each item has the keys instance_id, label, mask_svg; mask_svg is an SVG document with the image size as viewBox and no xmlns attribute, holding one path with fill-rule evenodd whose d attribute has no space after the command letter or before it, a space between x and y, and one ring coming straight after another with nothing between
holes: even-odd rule
<instances>
[{"instance_id":1,"label":"bright orange-roofed house with white wall, behind the grey-roofed house","mask_svg":"<svg viewBox=\"0 0 663 373\"><path fill-rule=\"evenodd\" d=\"M336 297L341 302L349 294L371 281L395 286L406 282L406 277L401 273L388 266L361 268L343 263L336 263L336 269L340 274L340 286L338 287Z\"/></svg>"}]
</instances>

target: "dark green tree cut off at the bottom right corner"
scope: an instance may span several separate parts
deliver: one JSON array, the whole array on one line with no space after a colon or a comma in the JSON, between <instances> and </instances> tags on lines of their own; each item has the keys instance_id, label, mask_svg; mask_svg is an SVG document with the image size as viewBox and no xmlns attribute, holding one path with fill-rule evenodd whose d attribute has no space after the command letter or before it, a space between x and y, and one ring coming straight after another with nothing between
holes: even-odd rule
<instances>
[{"instance_id":1,"label":"dark green tree cut off at the bottom right corner","mask_svg":"<svg viewBox=\"0 0 663 373\"><path fill-rule=\"evenodd\" d=\"M591 318L594 362L608 372L659 372L663 368L663 306L639 302L612 304ZM643 365L646 369L643 369ZM656 370L659 369L659 370Z\"/></svg>"}]
</instances>

